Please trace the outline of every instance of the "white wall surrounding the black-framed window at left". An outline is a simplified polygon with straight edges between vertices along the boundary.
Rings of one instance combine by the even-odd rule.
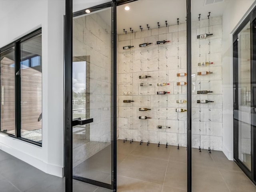
[[[63,176],[64,0],[1,0],[0,47],[42,27],[42,147],[0,135],[0,149]]]

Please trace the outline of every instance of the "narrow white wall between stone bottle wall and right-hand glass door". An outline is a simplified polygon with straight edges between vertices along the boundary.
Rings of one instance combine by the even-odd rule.
[[[233,160],[233,68],[232,33],[248,15],[248,9],[255,0],[228,0],[222,21],[222,62],[223,62],[223,152]]]

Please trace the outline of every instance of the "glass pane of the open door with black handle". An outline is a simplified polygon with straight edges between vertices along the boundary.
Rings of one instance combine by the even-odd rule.
[[[73,20],[73,175],[112,184],[111,8]]]

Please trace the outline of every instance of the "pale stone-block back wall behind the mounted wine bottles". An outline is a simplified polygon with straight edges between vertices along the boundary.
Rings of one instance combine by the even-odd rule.
[[[200,59],[199,41],[196,39],[196,35],[208,32],[208,20],[201,20],[200,27],[198,22],[192,22],[192,74],[195,74],[192,76],[192,146],[201,145],[201,148],[208,149],[210,133],[211,148],[222,150],[222,17],[210,18],[210,24],[210,32],[214,34],[210,37],[210,60],[214,64],[210,67],[198,67],[198,62],[209,60],[209,39],[200,40]],[[170,42],[158,46],[158,40]],[[140,48],[138,45],[144,42],[153,44]],[[128,45],[134,48],[123,50],[122,47]],[[200,71],[212,71],[213,74],[197,76]],[[186,109],[186,103],[177,104],[176,100],[186,100],[187,86],[176,85],[176,82],[186,82],[186,77],[176,76],[178,72],[186,72],[185,23],[118,35],[119,139],[150,140],[160,144],[168,142],[172,145],[177,145],[179,140],[180,146],[186,146],[186,112],[177,113],[175,109]],[[152,77],[139,79],[140,75]],[[160,82],[168,82],[170,85],[156,86]],[[152,86],[141,87],[140,83]],[[196,93],[197,90],[209,90],[209,84],[212,94]],[[157,91],[169,91],[170,94],[157,95]],[[133,94],[123,95],[123,92]],[[123,100],[134,102],[123,103]],[[197,104],[196,100],[214,100],[214,103]],[[139,111],[140,107],[151,110]],[[149,116],[152,119],[140,120],[139,116]],[[156,128],[157,125],[171,128],[161,130]]]

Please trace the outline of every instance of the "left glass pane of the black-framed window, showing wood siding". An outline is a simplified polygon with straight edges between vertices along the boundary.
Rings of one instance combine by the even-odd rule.
[[[0,53],[1,131],[15,135],[15,64],[14,47]]]

